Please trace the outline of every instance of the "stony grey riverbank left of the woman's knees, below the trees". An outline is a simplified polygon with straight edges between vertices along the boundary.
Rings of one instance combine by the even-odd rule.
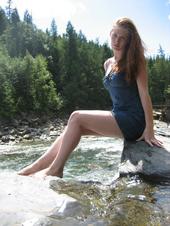
[[[67,116],[58,118],[25,116],[10,121],[0,120],[0,144],[51,140],[58,136],[67,123]]]

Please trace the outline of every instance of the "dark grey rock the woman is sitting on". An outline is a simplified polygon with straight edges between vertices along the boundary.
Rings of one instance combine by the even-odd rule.
[[[144,141],[124,142],[119,166],[120,176],[139,174],[152,181],[170,181],[170,144],[164,148],[149,146]]]

